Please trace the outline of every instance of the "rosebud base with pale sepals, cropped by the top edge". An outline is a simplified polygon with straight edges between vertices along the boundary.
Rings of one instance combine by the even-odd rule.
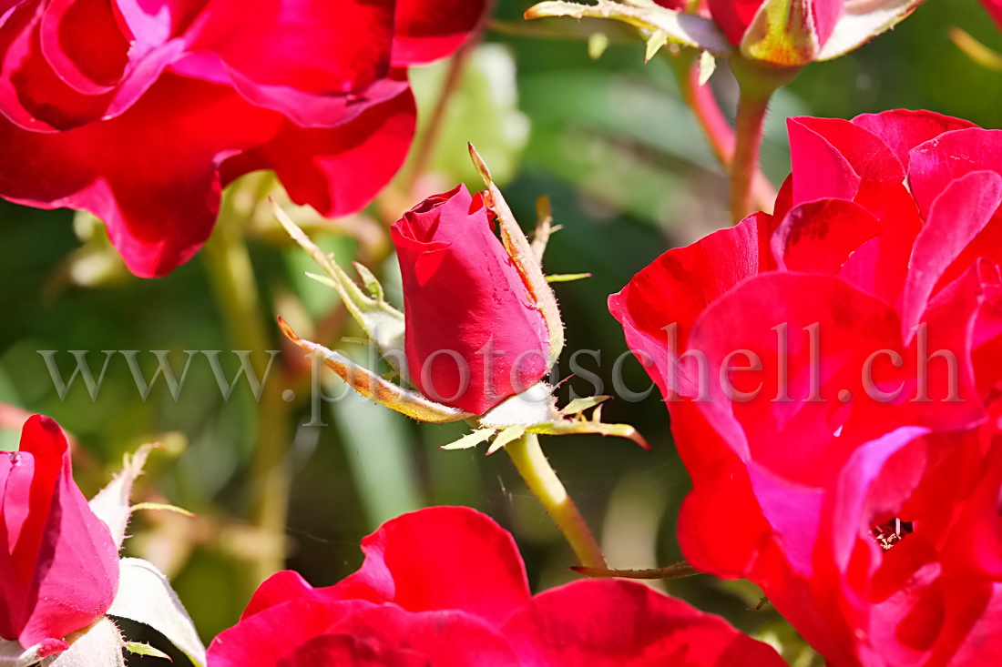
[[[741,55],[775,65],[828,60],[893,28],[923,0],[707,0]]]

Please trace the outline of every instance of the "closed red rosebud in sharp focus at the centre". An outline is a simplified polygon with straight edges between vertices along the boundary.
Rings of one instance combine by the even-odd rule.
[[[431,196],[391,233],[404,282],[407,365],[419,391],[483,415],[542,379],[546,322],[479,194],[458,185]]]

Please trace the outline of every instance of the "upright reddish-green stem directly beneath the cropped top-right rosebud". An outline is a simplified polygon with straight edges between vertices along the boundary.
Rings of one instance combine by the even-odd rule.
[[[730,165],[730,219],[737,224],[755,210],[752,183],[759,173],[759,150],[769,102],[773,93],[797,76],[800,68],[734,58],[730,69],[740,87],[734,158]]]

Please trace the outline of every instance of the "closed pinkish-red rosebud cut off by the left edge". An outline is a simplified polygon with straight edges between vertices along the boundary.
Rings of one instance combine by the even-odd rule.
[[[118,549],[73,482],[66,436],[35,416],[0,466],[0,637],[44,657],[104,615],[118,588]]]

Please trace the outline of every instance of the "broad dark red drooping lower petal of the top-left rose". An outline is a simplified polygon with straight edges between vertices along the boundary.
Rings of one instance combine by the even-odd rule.
[[[212,230],[216,165],[280,123],[224,87],[164,75],[128,113],[76,130],[40,134],[0,120],[0,143],[25,156],[0,164],[0,192],[42,208],[89,210],[130,270],[163,275]]]

